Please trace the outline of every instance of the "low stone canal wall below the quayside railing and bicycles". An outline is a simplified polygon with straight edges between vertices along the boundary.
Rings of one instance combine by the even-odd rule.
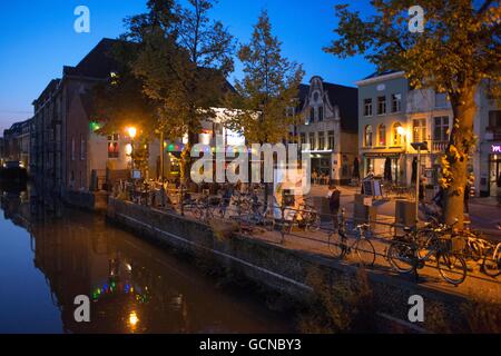
[[[200,221],[114,198],[108,201],[107,217],[136,234],[165,243],[184,253],[212,258],[234,276],[245,277],[299,301],[312,296],[313,288],[308,285],[308,276],[313,270],[324,273],[322,275],[328,276],[331,283],[346,276],[356,278],[355,266],[248,236],[233,234],[222,239],[210,226]],[[464,320],[458,318],[464,315],[459,313],[468,300],[464,296],[416,285],[381,270],[366,273],[377,314],[393,326],[423,330],[404,322],[407,320],[411,307],[409,298],[413,295],[422,296],[426,306],[433,305],[435,312],[443,313],[436,317],[446,316],[452,318],[455,325],[463,325]]]

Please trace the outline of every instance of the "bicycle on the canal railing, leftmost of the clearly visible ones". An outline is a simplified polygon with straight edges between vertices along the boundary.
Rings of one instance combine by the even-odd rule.
[[[328,235],[327,245],[331,254],[334,258],[344,259],[352,251],[355,251],[363,266],[374,266],[376,254],[374,245],[367,236],[370,225],[360,224],[355,227],[356,237],[352,245],[348,244],[346,225],[345,211],[343,209],[338,219],[337,234],[335,234],[336,231],[332,231]]]

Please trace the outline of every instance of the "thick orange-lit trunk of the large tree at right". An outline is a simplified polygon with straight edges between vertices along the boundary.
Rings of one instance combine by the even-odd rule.
[[[443,168],[443,177],[446,179],[446,194],[444,201],[444,222],[463,227],[464,189],[468,184],[469,156],[474,146],[473,120],[477,113],[475,88],[468,87],[460,91],[455,98],[451,98],[454,119],[452,122],[451,138],[445,151],[450,167]]]

